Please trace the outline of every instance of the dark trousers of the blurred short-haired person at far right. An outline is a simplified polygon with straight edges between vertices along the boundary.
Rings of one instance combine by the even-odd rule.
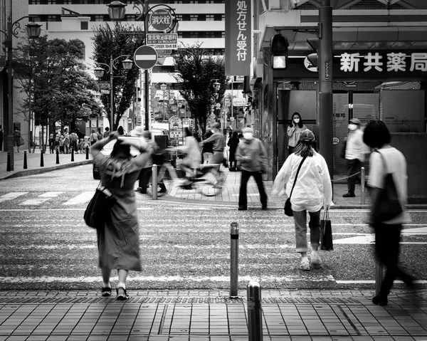
[[[386,269],[380,295],[389,295],[393,282],[401,278],[406,284],[411,285],[412,277],[399,268],[399,243],[401,238],[401,224],[375,224],[375,253]]]

